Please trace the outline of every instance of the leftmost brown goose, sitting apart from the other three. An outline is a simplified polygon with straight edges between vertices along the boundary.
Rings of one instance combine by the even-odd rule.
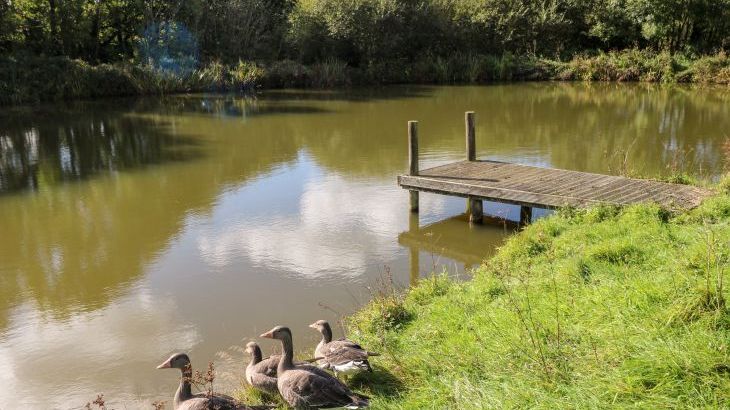
[[[176,353],[170,356],[164,363],[157,366],[158,369],[180,369],[182,377],[180,386],[175,392],[172,400],[173,410],[256,410],[268,409],[268,406],[249,407],[238,403],[233,397],[225,394],[213,393],[212,396],[199,393],[193,394],[190,378],[193,376],[193,369],[190,366],[190,358],[185,353]]]

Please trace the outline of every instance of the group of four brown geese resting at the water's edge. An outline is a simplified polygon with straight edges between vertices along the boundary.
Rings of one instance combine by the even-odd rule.
[[[347,339],[332,340],[332,328],[325,320],[318,320],[309,327],[322,334],[322,340],[314,351],[314,361],[319,366],[294,361],[294,343],[288,327],[276,326],[261,337],[281,342],[282,354],[262,358],[261,348],[255,342],[246,345],[251,361],[246,367],[246,382],[254,388],[281,397],[295,409],[321,409],[345,407],[349,409],[368,406],[368,397],[352,392],[338,376],[360,371],[372,372],[368,352]],[[249,406],[220,393],[193,394],[190,380],[192,367],[185,353],[170,356],[158,369],[179,369],[180,385],[173,398],[174,410],[255,410],[269,406]],[[327,370],[334,373],[334,376]]]

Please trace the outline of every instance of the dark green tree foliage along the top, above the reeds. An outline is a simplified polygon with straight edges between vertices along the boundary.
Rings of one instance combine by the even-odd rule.
[[[203,65],[563,59],[632,47],[708,54],[730,47],[730,0],[0,1],[0,55],[146,63],[150,51],[180,51],[181,42]]]

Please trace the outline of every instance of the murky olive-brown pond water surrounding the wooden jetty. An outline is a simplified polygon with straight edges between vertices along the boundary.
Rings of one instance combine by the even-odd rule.
[[[0,112],[0,409],[172,399],[174,351],[243,372],[235,346],[284,324],[309,352],[382,282],[468,277],[513,231],[465,201],[396,185],[406,123],[422,167],[477,155],[537,166],[717,178],[730,90],[528,83],[267,91]],[[485,212],[516,219],[513,206]],[[413,263],[416,261],[416,263]],[[336,334],[341,334],[337,328]],[[262,343],[265,354],[274,348]]]

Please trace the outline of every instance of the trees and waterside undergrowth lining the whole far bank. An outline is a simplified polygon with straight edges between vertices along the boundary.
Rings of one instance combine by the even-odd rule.
[[[730,81],[730,0],[0,0],[0,103],[255,87]]]

